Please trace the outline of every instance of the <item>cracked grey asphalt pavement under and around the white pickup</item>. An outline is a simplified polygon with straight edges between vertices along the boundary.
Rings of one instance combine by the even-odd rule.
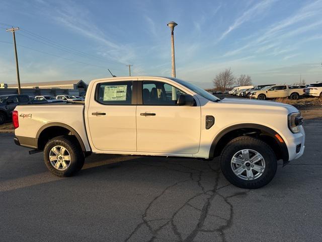
[[[320,241],[322,120],[266,187],[236,188],[217,160],[92,155],[74,177],[0,134],[0,241]]]

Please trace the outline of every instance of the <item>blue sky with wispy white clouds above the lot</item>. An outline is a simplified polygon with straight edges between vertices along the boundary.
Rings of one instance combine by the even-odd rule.
[[[89,82],[108,68],[127,76],[127,64],[135,76],[170,76],[170,21],[177,77],[203,88],[225,68],[255,84],[322,81],[321,13],[322,0],[0,0],[0,83],[16,82],[7,24],[22,29],[21,82]]]

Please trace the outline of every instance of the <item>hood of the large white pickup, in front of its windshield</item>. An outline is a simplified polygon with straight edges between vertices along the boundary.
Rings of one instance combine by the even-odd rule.
[[[263,101],[263,100],[253,100],[253,99],[241,99],[241,98],[224,98],[220,100],[222,103],[236,104],[236,105],[257,105],[257,106],[275,106],[284,107],[290,112],[298,112],[298,109],[292,105],[275,102],[275,101]]]

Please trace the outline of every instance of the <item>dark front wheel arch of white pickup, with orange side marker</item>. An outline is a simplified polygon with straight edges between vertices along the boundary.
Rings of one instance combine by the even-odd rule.
[[[238,124],[222,130],[213,140],[209,158],[219,156],[225,145],[239,136],[253,136],[266,142],[275,152],[278,159],[287,162],[288,149],[283,138],[273,129],[258,124]]]

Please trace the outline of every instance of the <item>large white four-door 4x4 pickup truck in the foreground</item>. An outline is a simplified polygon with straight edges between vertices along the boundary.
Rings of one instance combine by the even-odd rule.
[[[50,106],[50,108],[49,108]],[[57,176],[91,153],[213,159],[240,188],[260,188],[304,152],[300,112],[272,101],[219,99],[176,78],[93,80],[85,104],[18,105],[17,145],[43,151]],[[198,162],[198,161],[196,161]]]

